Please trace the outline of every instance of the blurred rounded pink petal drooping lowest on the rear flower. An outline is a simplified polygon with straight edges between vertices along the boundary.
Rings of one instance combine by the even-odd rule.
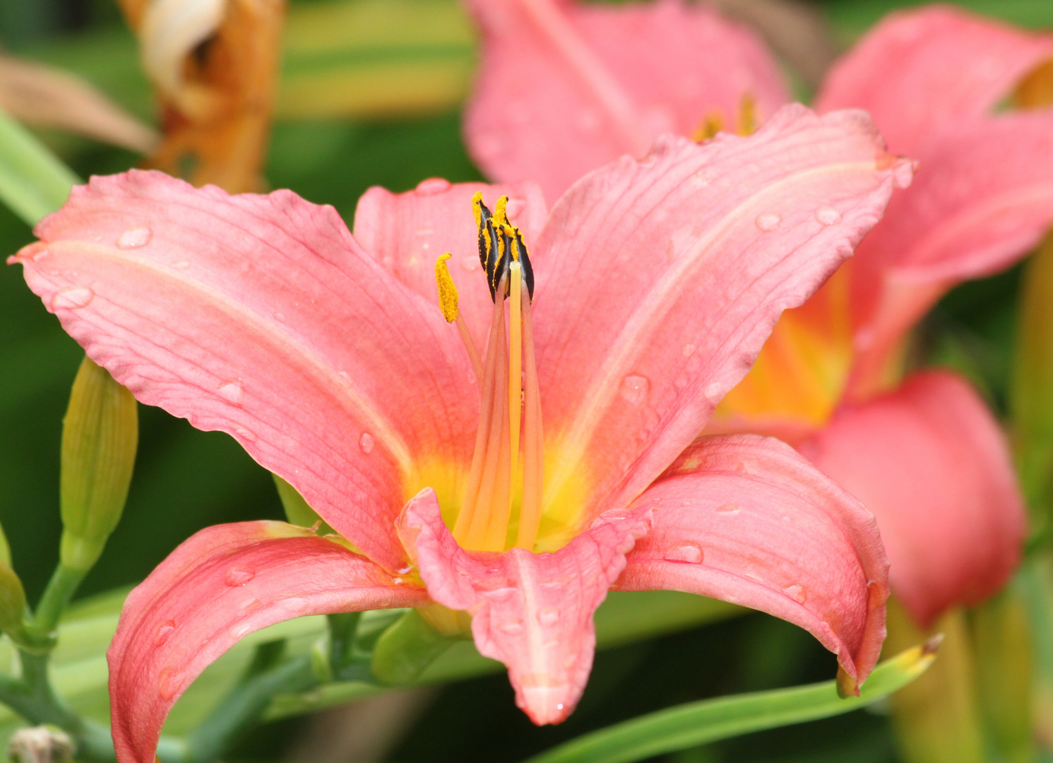
[[[957,376],[919,373],[801,450],[874,512],[892,589],[921,626],[978,604],[1016,568],[1025,519],[1006,437]]]

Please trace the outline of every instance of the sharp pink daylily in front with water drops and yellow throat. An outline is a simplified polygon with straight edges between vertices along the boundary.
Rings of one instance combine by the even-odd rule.
[[[369,191],[351,234],[287,191],[75,189],[9,260],[31,289],[138,399],[230,433],[340,533],[207,528],[133,591],[110,650],[122,763],[153,761],[218,654],[302,614],[468,612],[536,723],[573,710],[612,587],[771,612],[865,680],[873,517],[777,441],[694,441],[910,175],[862,112],[788,106],[751,137],[662,139],[549,214],[531,184],[432,179]]]

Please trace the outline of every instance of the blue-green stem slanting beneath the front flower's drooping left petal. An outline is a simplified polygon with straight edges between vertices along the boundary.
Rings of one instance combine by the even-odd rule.
[[[259,721],[276,693],[303,691],[317,683],[310,657],[290,660],[252,677],[223,698],[197,727],[187,740],[183,760],[187,763],[218,760],[243,731]]]

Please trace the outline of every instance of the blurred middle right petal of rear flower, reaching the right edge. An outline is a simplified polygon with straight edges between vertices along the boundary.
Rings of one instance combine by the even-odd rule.
[[[1009,267],[1053,223],[1053,111],[945,129],[917,158],[852,259],[857,397],[950,287]]]

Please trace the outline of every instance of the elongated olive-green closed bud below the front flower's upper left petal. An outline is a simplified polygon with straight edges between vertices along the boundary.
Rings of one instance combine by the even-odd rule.
[[[135,397],[85,357],[62,423],[64,567],[86,572],[102,553],[124,510],[138,442]]]

